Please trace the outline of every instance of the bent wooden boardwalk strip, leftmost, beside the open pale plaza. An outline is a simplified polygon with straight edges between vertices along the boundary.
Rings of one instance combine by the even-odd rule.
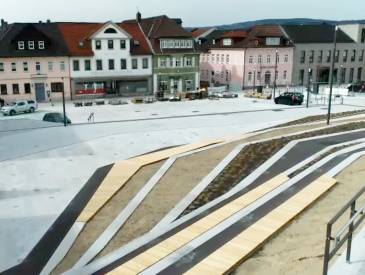
[[[183,145],[114,164],[84,210],[80,213],[77,222],[88,222],[143,166],[167,159],[171,156],[221,143],[222,141],[211,140]]]

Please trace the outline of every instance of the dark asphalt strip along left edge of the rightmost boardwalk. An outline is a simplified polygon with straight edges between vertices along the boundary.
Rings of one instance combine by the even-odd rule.
[[[169,275],[169,274],[182,274],[192,268],[194,265],[201,262],[208,255],[219,249],[222,245],[229,242],[237,235],[242,233],[245,229],[250,227],[252,224],[260,220],[262,217],[270,213],[274,208],[277,208],[279,205],[283,204],[285,201],[290,199],[295,194],[302,191],[306,186],[311,184],[314,180],[324,175],[328,171],[330,171],[333,167],[341,163],[343,160],[348,158],[351,154],[364,151],[364,149],[359,149],[351,153],[346,153],[340,156],[335,157],[328,163],[324,164],[320,169],[315,170],[302,180],[295,183],[292,187],[288,188],[284,192],[280,193],[273,199],[267,201],[261,207],[257,208],[253,212],[251,212],[248,216],[244,217],[234,225],[230,226],[228,229],[222,231],[217,234],[213,238],[209,239],[203,245],[194,249],[184,257],[180,258],[174,264],[170,265],[166,269],[162,270],[161,275]],[[239,263],[237,263],[238,265]],[[233,267],[232,269],[234,269]]]

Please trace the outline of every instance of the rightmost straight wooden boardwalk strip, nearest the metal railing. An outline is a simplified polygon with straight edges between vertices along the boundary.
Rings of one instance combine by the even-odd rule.
[[[322,176],[301,192],[275,208],[241,234],[224,244],[185,274],[226,274],[247,259],[273,234],[294,219],[308,206],[336,184],[336,180]]]

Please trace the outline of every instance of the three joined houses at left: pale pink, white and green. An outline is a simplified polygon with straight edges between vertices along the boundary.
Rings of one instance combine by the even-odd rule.
[[[180,19],[0,25],[5,101],[175,94],[199,88],[199,53]]]

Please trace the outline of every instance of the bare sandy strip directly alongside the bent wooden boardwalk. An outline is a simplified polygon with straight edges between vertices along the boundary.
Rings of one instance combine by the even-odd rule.
[[[108,225],[123,210],[141,187],[157,172],[162,162],[140,169],[124,187],[85,225],[63,261],[52,274],[61,274],[70,269],[100,236]]]

